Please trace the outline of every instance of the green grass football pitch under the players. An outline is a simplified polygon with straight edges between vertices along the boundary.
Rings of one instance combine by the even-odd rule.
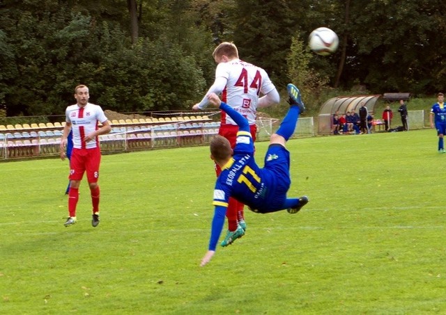
[[[445,314],[446,154],[431,129],[291,140],[295,215],[246,213],[207,266],[208,147],[102,157],[101,223],[68,163],[0,163],[1,314]],[[258,161],[268,143],[257,143]]]

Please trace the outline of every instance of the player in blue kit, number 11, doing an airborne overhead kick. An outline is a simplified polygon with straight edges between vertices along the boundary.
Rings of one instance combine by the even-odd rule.
[[[210,141],[210,157],[220,165],[222,172],[215,184],[213,205],[215,206],[208,252],[201,259],[201,266],[208,264],[215,254],[218,239],[222,233],[229,197],[243,202],[256,213],[270,213],[287,210],[297,213],[309,201],[306,196],[287,198],[291,185],[289,151],[286,141],[293,135],[300,113],[305,106],[300,91],[293,84],[288,85],[290,109],[275,134],[265,156],[265,166],[260,168],[254,161],[254,142],[249,132],[249,123],[231,106],[223,103],[215,93],[208,95],[210,104],[226,112],[238,125],[236,147],[231,149],[229,140],[215,136]],[[230,243],[243,236],[243,229],[233,233]]]

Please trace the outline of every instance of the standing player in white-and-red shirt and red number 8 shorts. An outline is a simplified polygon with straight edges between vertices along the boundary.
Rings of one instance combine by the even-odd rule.
[[[61,139],[61,159],[66,157],[65,148],[68,134],[72,131],[73,148],[70,158],[70,190],[68,191],[68,212],[70,216],[64,225],[66,227],[76,223],[76,206],[79,200],[79,185],[86,172],[91,191],[91,203],[93,204],[93,216],[91,225],[99,224],[99,196],[98,186],[100,166],[100,146],[98,136],[108,134],[110,126],[104,111],[100,106],[89,103],[89,88],[77,86],[75,99],[77,104],[66,109],[66,125],[63,128]],[[102,124],[99,128],[98,122]]]

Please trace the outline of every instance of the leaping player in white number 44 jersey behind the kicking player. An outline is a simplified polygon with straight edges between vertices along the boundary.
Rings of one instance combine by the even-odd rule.
[[[261,67],[246,63],[238,57],[238,49],[231,42],[222,42],[215,48],[213,58],[218,64],[215,70],[215,81],[209,88],[200,103],[192,108],[197,111],[208,106],[208,95],[221,94],[222,102],[229,104],[233,109],[245,116],[249,122],[253,140],[256,139],[256,113],[257,108],[267,107],[280,102],[270,77]],[[260,97],[260,95],[263,95]],[[231,147],[236,146],[238,126],[224,111],[221,113],[219,134],[229,140]],[[222,171],[216,164],[217,176]],[[226,211],[228,218],[228,231],[222,246],[231,244],[234,240],[245,234],[246,223],[243,213],[243,203],[231,198]]]

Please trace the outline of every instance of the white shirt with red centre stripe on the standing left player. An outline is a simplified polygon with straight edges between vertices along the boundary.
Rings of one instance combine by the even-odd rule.
[[[104,111],[98,105],[87,103],[84,107],[77,104],[66,109],[66,122],[71,122],[72,143],[76,149],[93,149],[99,147],[98,137],[85,142],[84,138],[91,132],[98,130],[98,122],[107,121]]]

